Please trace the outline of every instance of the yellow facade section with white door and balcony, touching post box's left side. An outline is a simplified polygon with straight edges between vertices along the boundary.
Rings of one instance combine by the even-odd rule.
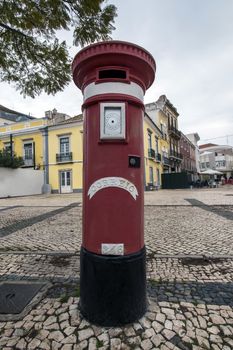
[[[49,126],[48,173],[46,175],[52,193],[81,192],[82,167],[82,116]]]

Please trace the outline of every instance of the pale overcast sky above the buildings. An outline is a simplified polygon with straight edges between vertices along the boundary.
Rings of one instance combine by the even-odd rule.
[[[156,79],[145,103],[165,94],[180,114],[183,133],[197,132],[202,143],[233,145],[233,0],[109,3],[118,8],[113,39],[138,44],[156,60]],[[72,56],[80,49],[72,47],[71,33],[60,38],[67,40]],[[81,112],[82,95],[73,83],[55,96],[35,99],[23,98],[5,83],[0,89],[0,104],[35,117],[53,108],[71,116]]]

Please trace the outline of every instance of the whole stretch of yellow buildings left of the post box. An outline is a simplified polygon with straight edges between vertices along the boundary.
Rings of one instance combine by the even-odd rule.
[[[22,157],[24,168],[44,170],[44,193],[82,190],[82,116],[70,118],[54,110],[47,118],[17,123],[3,115],[1,124],[0,150]]]

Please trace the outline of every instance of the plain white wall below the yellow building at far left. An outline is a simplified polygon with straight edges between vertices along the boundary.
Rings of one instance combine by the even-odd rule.
[[[0,197],[41,194],[43,170],[0,167]]]

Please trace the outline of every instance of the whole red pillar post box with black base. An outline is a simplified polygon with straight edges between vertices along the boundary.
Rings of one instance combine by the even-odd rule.
[[[80,309],[116,326],[146,311],[143,97],[155,61],[137,45],[100,42],[72,70],[84,97]]]

